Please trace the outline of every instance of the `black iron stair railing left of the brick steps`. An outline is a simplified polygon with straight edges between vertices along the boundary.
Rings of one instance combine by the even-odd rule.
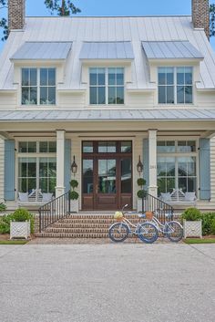
[[[44,204],[39,208],[39,232],[41,233],[47,226],[56,223],[57,220],[70,214],[69,192],[62,194],[53,201]]]

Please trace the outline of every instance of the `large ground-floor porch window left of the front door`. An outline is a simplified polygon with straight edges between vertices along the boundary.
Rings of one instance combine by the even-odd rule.
[[[55,193],[56,141],[18,143],[18,192]]]

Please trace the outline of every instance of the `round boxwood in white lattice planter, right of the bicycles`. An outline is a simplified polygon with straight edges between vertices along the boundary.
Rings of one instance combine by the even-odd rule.
[[[202,238],[201,213],[197,208],[188,208],[182,213],[184,225],[184,238]]]

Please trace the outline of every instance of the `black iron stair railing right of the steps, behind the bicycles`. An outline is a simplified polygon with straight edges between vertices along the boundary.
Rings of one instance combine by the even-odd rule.
[[[169,203],[164,203],[146,192],[145,197],[142,198],[142,213],[145,212],[153,212],[161,223],[165,223],[167,219],[173,220],[174,209]]]

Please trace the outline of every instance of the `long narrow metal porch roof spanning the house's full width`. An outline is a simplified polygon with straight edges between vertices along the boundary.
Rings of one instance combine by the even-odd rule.
[[[57,109],[0,111],[0,122],[215,120],[215,109]]]

